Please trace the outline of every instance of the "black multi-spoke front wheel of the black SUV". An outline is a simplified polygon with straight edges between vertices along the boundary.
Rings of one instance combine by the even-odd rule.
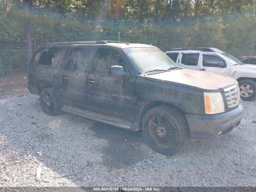
[[[172,155],[180,150],[188,135],[187,120],[182,112],[170,107],[150,109],[143,118],[142,133],[155,151]]]

